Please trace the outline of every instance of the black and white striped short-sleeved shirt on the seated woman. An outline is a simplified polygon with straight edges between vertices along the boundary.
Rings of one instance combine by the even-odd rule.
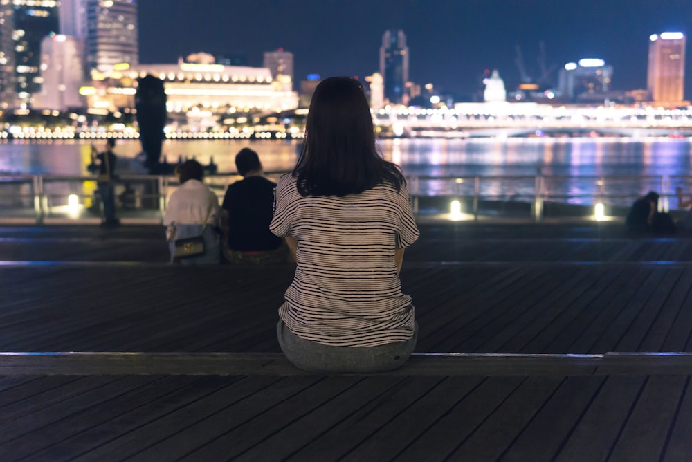
[[[419,232],[408,190],[380,184],[361,194],[303,197],[291,174],[276,187],[269,226],[298,241],[298,266],[279,315],[296,335],[327,345],[374,347],[414,333],[394,250]]]

